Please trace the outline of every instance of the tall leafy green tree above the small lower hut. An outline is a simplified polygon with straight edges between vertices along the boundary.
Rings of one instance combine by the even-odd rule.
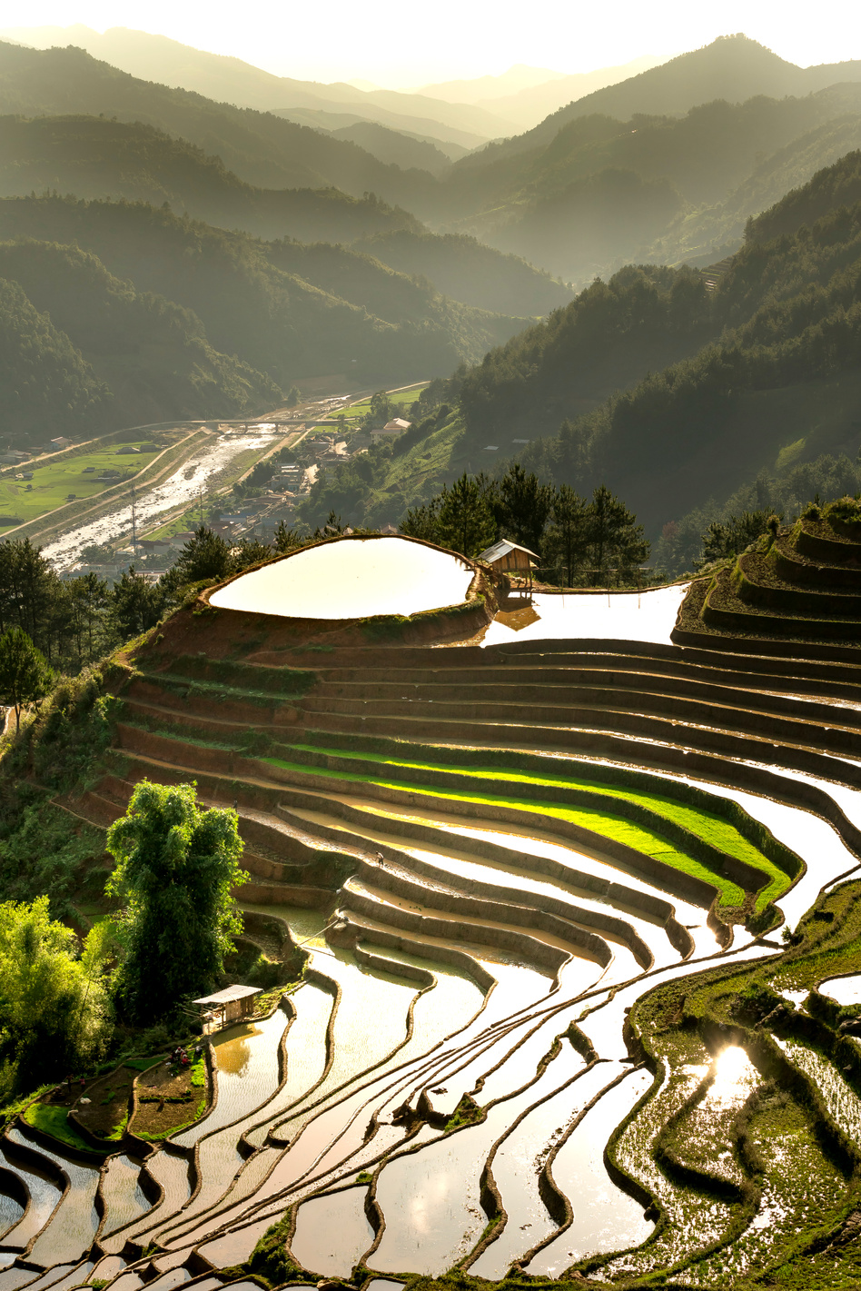
[[[107,831],[107,849],[116,861],[107,892],[123,905],[119,990],[147,1021],[212,990],[241,932],[232,889],[248,875],[236,813],[201,809],[195,785],[143,780]]]

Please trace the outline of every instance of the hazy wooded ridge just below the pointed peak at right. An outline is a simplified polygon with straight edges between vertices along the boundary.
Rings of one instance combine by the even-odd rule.
[[[747,216],[860,142],[861,84],[844,85],[718,99],[682,117],[580,116],[546,146],[465,158],[445,188],[471,212],[465,229],[582,283],[626,259],[709,257],[731,239],[734,249]]]

